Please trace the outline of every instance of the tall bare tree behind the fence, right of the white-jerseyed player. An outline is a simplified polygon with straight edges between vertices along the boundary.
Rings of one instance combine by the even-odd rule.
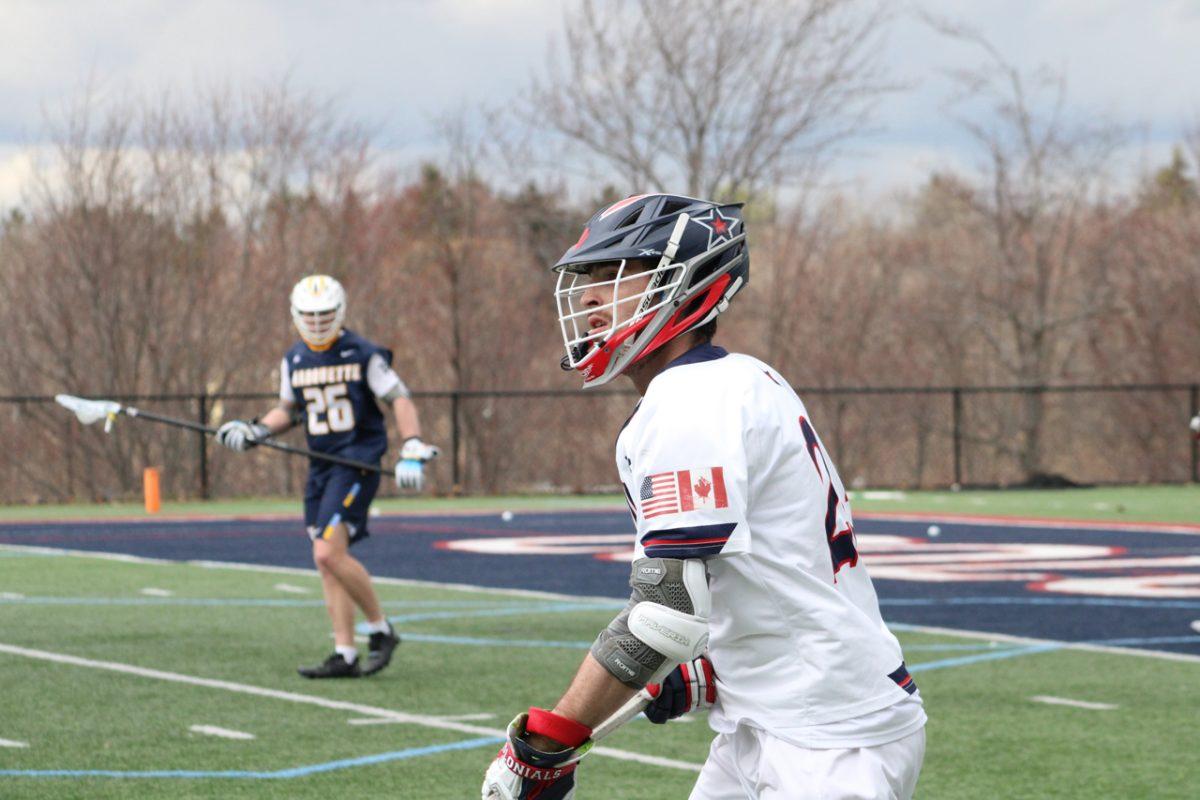
[[[1114,307],[1117,225],[1104,193],[1127,132],[1075,121],[1062,76],[1024,73],[979,34],[938,28],[983,64],[953,73],[965,109],[956,118],[982,164],[972,191],[956,196],[966,248],[937,266],[962,300],[961,335],[978,342],[974,356],[994,366],[991,379],[1028,387],[995,440],[1036,480],[1045,471],[1038,387],[1078,375],[1091,325]]]

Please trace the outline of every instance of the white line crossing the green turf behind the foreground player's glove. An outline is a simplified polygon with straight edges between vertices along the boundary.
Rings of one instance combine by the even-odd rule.
[[[440,717],[428,716],[424,714],[408,714],[407,711],[394,711],[391,709],[383,709],[374,705],[364,705],[361,703],[347,703],[344,700],[332,700],[325,697],[317,697],[313,694],[300,694],[298,692],[284,692],[277,688],[251,686],[248,684],[235,684],[228,680],[215,680],[211,678],[184,675],[175,672],[166,672],[162,669],[149,669],[146,667],[136,667],[133,664],[125,664],[115,661],[97,661],[95,658],[80,658],[79,656],[72,656],[65,652],[34,650],[31,648],[22,648],[13,644],[2,644],[2,643],[0,643],[0,652],[7,652],[10,655],[23,656],[25,658],[34,658],[37,661],[50,661],[55,663],[71,664],[73,667],[106,669],[109,672],[122,673],[126,675],[137,675],[138,678],[151,678],[155,680],[164,680],[174,684],[187,684],[190,686],[220,688],[222,691],[234,692],[238,694],[268,697],[276,700],[286,700],[288,703],[301,703],[305,705],[316,705],[323,709],[334,709],[336,711],[352,711],[361,716],[382,717],[386,720],[395,720],[396,722],[408,722],[410,724],[419,724],[426,728],[438,728],[442,730],[469,733],[475,736],[496,736],[497,739],[503,739],[505,735],[505,733],[498,728],[484,728],[481,726],[455,722],[452,720],[444,720]],[[608,756],[610,758],[618,758],[626,762],[638,762],[642,764],[650,764],[653,766],[668,766],[673,769],[688,770],[694,772],[700,771],[700,764],[679,762],[672,758],[658,758],[655,756],[646,756],[643,753],[635,753],[628,750],[616,750],[612,747],[596,747],[593,750],[593,752],[600,753],[602,756]]]

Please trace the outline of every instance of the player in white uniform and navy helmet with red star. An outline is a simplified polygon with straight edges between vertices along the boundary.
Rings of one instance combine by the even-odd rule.
[[[925,712],[838,471],[787,383],[710,343],[749,277],[740,205],[622,200],[554,270],[564,367],[642,395],[617,439],[632,596],[554,709],[510,726],[484,798],[570,798],[590,730],[634,692],[666,674],[701,698],[706,646],[718,735],[692,799],[911,798]]]

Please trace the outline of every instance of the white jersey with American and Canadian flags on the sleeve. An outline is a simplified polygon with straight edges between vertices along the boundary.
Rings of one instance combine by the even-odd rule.
[[[770,367],[712,345],[677,359],[617,438],[617,468],[636,558],[708,561],[715,730],[865,747],[924,724],[841,479]]]

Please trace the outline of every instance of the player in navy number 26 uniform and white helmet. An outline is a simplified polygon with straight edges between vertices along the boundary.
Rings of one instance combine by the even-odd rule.
[[[300,341],[280,365],[280,404],[256,421],[232,420],[217,440],[239,452],[292,427],[306,423],[308,447],[376,464],[388,450],[388,431],[376,399],[389,403],[404,441],[396,483],[420,489],[424,463],[437,449],[421,441],[416,408],[391,368],[391,353],[342,327],[346,291],[324,275],[310,276],[292,290],[292,320]],[[371,675],[391,660],[400,637],[379,608],[371,576],[349,553],[367,536],[367,510],[379,475],[312,459],[305,487],[304,516],[312,540],[312,560],[320,572],[325,608],[334,622],[335,650],[323,663],[302,667],[305,678]],[[360,667],[354,646],[354,607],[371,631],[370,652]]]

